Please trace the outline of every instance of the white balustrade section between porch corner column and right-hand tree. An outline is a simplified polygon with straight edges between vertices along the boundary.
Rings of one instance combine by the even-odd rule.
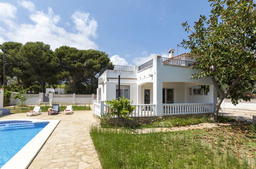
[[[163,104],[163,115],[183,115],[183,114],[202,114],[212,113],[212,103],[180,103]]]

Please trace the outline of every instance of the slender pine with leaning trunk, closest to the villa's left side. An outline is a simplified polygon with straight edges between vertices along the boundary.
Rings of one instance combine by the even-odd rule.
[[[82,54],[87,60],[85,61],[85,69],[88,75],[88,79],[90,79],[90,88],[89,94],[92,93],[95,75],[100,73],[106,66],[112,66],[112,62],[108,57],[108,54],[102,51],[97,51],[93,49],[89,49],[83,52]]]

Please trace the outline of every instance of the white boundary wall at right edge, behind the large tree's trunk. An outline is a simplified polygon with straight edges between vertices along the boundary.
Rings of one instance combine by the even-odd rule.
[[[222,109],[256,111],[256,99],[245,101],[240,99],[237,105],[232,104],[231,99],[224,99],[221,103]]]

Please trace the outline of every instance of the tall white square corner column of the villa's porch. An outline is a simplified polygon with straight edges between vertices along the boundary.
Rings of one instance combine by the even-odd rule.
[[[153,74],[153,104],[156,104],[156,115],[163,115],[163,81],[162,81],[162,57],[155,56],[153,58],[153,67],[155,74]]]

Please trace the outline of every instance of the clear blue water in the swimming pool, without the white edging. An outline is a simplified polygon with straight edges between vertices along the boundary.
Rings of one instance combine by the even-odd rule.
[[[49,122],[0,122],[0,168]]]

